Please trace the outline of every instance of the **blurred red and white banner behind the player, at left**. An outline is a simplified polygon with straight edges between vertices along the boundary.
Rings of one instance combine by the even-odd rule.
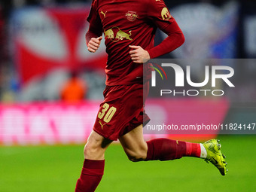
[[[97,53],[87,51],[89,8],[24,8],[14,12],[11,36],[22,83],[56,68],[105,67],[104,40]]]

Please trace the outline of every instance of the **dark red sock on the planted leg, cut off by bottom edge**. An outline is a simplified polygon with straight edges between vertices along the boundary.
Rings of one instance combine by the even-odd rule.
[[[84,160],[75,192],[93,192],[96,190],[104,172],[105,160]]]

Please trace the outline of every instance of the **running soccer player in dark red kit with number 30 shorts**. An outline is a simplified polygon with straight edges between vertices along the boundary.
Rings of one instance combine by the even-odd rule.
[[[144,110],[146,96],[143,97],[148,93],[148,81],[143,83],[142,78],[143,70],[148,69],[143,63],[184,43],[184,35],[163,0],[93,0],[87,20],[90,27],[86,40],[90,52],[96,52],[102,33],[105,35],[107,78],[105,99],[84,147],[84,166],[75,191],[96,190],[104,171],[105,150],[117,139],[134,162],[200,157],[225,175],[225,157],[216,139],[203,144],[171,139],[145,142],[143,139],[142,124],[149,121]],[[157,27],[168,37],[154,47]]]

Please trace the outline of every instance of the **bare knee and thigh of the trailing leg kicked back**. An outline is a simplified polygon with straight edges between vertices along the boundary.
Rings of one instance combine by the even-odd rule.
[[[143,138],[142,125],[121,136],[119,141],[130,160],[145,160],[147,157],[148,145]]]

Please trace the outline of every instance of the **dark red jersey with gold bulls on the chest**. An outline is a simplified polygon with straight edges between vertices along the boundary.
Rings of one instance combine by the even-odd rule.
[[[177,26],[172,25],[175,20],[163,0],[94,0],[87,20],[93,25],[94,34],[105,35],[106,84],[111,86],[142,83],[144,65],[133,62],[129,45],[148,50],[152,59],[166,53],[166,50],[154,50],[157,27],[169,35],[170,26]]]

